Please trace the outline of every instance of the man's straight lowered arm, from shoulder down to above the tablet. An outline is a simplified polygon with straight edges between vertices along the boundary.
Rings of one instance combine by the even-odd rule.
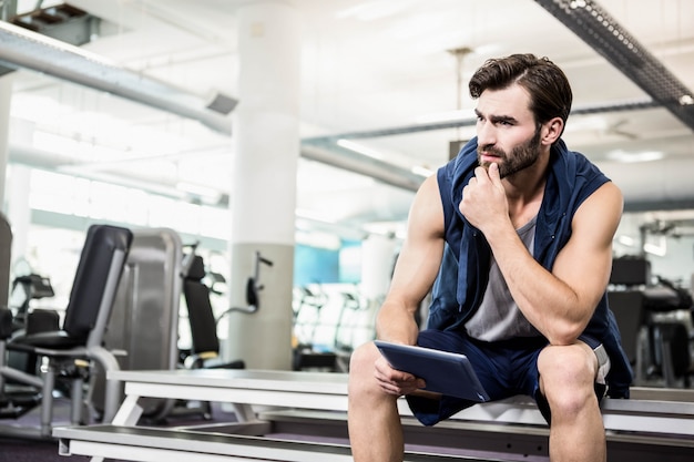
[[[439,186],[436,175],[431,175],[417,192],[410,208],[407,238],[376,321],[379,339],[407,345],[417,341],[419,326],[415,312],[439,271],[443,233]]]

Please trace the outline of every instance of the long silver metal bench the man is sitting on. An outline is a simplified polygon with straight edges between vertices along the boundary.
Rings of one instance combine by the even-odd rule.
[[[233,460],[351,460],[346,374],[120,370],[110,371],[109,379],[124,382],[125,400],[115,418],[110,424],[54,429],[61,454],[162,462],[232,455]],[[139,427],[137,401],[146,397],[231,403],[237,422],[186,429]],[[603,402],[610,461],[693,460],[694,392],[635,388],[632,397]],[[529,398],[478,404],[433,428],[417,423],[404,400],[398,409],[406,460],[548,460],[549,430]]]

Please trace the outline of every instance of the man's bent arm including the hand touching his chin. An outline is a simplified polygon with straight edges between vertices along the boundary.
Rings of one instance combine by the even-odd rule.
[[[579,207],[571,237],[552,271],[542,267],[521,242],[508,215],[496,165],[489,175],[478,168],[463,189],[461,212],[487,237],[499,269],[519,309],[552,345],[570,345],[583,332],[610,279],[612,238],[623,199],[611,182]]]

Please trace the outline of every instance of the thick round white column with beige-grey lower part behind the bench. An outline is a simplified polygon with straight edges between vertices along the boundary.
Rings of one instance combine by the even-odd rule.
[[[234,112],[231,304],[246,305],[256,253],[259,309],[233,312],[225,357],[247,368],[292,367],[292,292],[299,156],[299,18],[279,2],[238,10],[239,104]]]

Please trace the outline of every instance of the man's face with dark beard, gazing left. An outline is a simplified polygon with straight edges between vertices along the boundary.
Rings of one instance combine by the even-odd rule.
[[[534,165],[540,156],[541,126],[529,109],[530,96],[519,85],[486,90],[477,113],[478,162],[499,165],[501,177]]]

